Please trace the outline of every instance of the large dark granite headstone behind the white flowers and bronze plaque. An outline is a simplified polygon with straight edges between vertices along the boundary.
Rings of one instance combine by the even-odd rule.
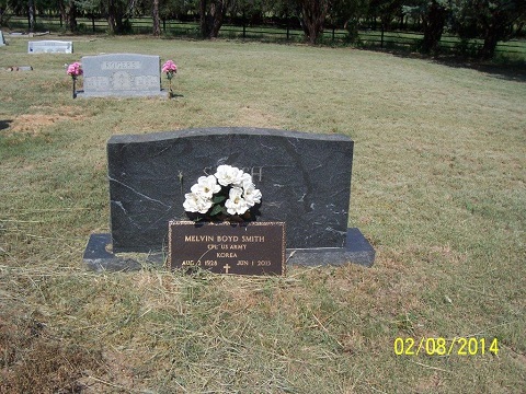
[[[184,194],[199,176],[230,164],[252,174],[263,195],[258,220],[286,222],[289,263],[369,266],[375,251],[358,229],[347,228],[353,146],[341,135],[259,128],[113,136],[113,252],[162,251],[168,222],[187,218]]]

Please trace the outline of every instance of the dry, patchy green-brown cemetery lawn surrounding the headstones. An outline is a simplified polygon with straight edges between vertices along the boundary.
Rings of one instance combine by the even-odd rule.
[[[142,37],[77,36],[73,55],[27,55],[26,38],[7,38],[1,393],[524,392],[524,70]],[[179,96],[71,99],[65,63],[124,51],[173,59]],[[87,271],[89,234],[108,231],[107,139],[207,126],[352,137],[350,225],[374,244],[374,267]],[[427,356],[437,341],[424,340],[397,356],[397,338],[415,354],[445,338],[451,354]]]

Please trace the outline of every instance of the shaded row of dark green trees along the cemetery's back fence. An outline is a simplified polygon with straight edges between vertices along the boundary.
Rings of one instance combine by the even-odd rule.
[[[217,37],[226,21],[242,24],[285,22],[302,28],[316,44],[323,28],[345,28],[356,37],[364,24],[387,31],[395,24],[423,33],[420,50],[438,51],[445,31],[460,38],[479,38],[479,56],[492,58],[496,44],[522,34],[526,0],[0,0],[0,23],[11,14],[58,14],[68,32],[78,30],[77,18],[101,18],[111,34],[130,28],[129,20],[149,16],[152,35],[161,34],[161,21],[197,19],[204,38]]]

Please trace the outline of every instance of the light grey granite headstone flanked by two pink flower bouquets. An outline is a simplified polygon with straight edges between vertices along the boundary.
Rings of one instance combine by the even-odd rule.
[[[108,54],[83,56],[83,92],[79,97],[165,96],[159,56]]]

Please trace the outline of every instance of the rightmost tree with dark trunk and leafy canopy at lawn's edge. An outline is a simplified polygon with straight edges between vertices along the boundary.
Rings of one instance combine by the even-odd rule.
[[[525,0],[464,0],[455,27],[462,38],[482,38],[484,44],[478,55],[491,59],[496,44],[515,37],[525,21]]]

